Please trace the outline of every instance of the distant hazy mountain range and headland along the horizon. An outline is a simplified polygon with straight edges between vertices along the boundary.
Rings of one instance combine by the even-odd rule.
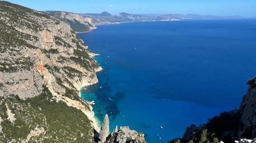
[[[101,24],[115,24],[121,22],[139,22],[139,21],[171,21],[171,20],[210,20],[210,19],[252,19],[256,17],[243,16],[214,16],[198,14],[131,14],[118,13],[112,15],[108,12],[102,13],[72,13],[62,11],[45,11],[46,13],[59,17],[70,23],[72,29],[79,32],[88,32]]]

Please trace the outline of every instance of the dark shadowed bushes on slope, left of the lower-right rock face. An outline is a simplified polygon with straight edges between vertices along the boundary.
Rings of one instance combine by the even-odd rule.
[[[234,139],[238,138],[238,131],[242,127],[240,118],[241,115],[236,110],[222,112],[219,116],[209,119],[201,129],[195,131],[191,140],[179,138],[169,141],[169,143],[219,143],[220,140],[232,143]]]

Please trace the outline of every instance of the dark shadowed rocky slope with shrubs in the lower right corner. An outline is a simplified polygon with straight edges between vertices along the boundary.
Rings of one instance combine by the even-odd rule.
[[[182,138],[169,143],[187,142],[234,142],[241,138],[256,137],[256,77],[247,81],[249,88],[239,109],[222,112],[206,124],[186,128]],[[254,139],[256,140],[256,139]],[[237,141],[238,142],[238,141]],[[241,141],[243,142],[243,141]],[[244,141],[250,142],[250,141]]]

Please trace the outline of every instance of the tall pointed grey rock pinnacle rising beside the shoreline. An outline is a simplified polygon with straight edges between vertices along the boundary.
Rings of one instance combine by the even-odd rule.
[[[109,116],[108,114],[105,115],[101,129],[99,131],[99,143],[104,143],[106,138],[109,136]]]

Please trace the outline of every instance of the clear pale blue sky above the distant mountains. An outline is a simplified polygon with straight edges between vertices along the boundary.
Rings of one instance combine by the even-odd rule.
[[[256,16],[256,0],[9,0],[35,10]]]

